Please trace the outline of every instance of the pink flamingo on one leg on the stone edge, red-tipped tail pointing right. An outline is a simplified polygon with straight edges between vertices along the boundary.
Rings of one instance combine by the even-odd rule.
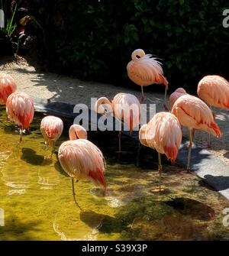
[[[189,94],[179,97],[173,105],[172,113],[176,115],[181,125],[189,128],[189,153],[187,172],[190,170],[192,150],[192,129],[202,130],[215,137],[221,136],[221,130],[214,122],[211,109],[201,99]]]

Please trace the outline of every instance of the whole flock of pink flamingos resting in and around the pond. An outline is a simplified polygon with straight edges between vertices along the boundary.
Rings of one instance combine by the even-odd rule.
[[[95,111],[106,115],[109,109],[115,118],[124,122],[130,131],[133,131],[134,126],[140,126],[140,111],[131,111],[129,118],[126,119],[122,105],[135,105],[140,109],[140,102],[144,101],[144,86],[157,83],[165,86],[164,107],[166,108],[168,81],[163,76],[161,63],[150,54],[145,54],[144,50],[134,50],[131,57],[132,60],[127,64],[127,75],[134,83],[141,86],[140,101],[132,94],[118,93],[111,102],[105,97],[98,99],[95,103]],[[15,92],[15,90],[15,80],[10,75],[1,73],[0,104],[6,105],[8,118],[21,127],[21,142],[24,129],[29,128],[34,118],[34,102],[26,93]],[[160,182],[162,171],[160,154],[166,154],[166,157],[174,163],[182,141],[182,126],[189,128],[190,135],[187,171],[190,170],[194,131],[208,132],[209,144],[210,135],[221,137],[221,130],[214,121],[211,107],[229,109],[228,81],[221,76],[205,76],[198,83],[197,95],[199,98],[189,95],[185,89],[176,89],[169,97],[170,111],[166,109],[166,112],[156,113],[150,122],[140,127],[140,144],[152,147],[158,152],[159,187],[152,190],[153,192],[163,190]],[[52,147],[53,154],[55,141],[63,132],[63,121],[55,116],[46,116],[40,123],[40,131],[45,142]],[[119,138],[121,139],[120,136]],[[121,144],[119,145],[121,149]],[[72,177],[73,196],[75,196],[74,180],[89,179],[107,189],[105,159],[102,151],[87,140],[87,131],[82,126],[72,125],[69,128],[69,141],[60,145],[58,158],[63,170]]]

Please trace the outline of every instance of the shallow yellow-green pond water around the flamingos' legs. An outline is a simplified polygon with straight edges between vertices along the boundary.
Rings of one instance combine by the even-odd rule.
[[[223,225],[227,199],[195,175],[182,175],[182,168],[170,166],[165,158],[165,190],[151,193],[158,183],[155,152],[139,152],[138,144],[123,138],[124,152],[118,160],[117,133],[89,133],[107,161],[108,192],[104,195],[102,187],[80,180],[80,210],[56,156],[60,143],[68,139],[70,124],[65,122],[50,160],[40,134],[43,115],[35,115],[19,145],[15,125],[7,122],[5,109],[0,110],[0,208],[5,213],[0,240],[229,239],[229,227]]]

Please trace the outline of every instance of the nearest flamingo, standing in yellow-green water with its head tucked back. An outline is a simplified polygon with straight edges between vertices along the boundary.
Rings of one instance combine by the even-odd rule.
[[[69,128],[69,139],[70,141],[60,145],[58,157],[63,170],[72,177],[73,196],[76,202],[74,179],[92,180],[95,184],[104,186],[106,190],[105,159],[100,149],[91,141],[87,141],[87,132],[81,125],[72,125]],[[76,204],[78,205],[77,202]]]

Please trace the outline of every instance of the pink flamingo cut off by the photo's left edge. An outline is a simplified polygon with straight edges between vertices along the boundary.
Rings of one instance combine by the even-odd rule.
[[[17,89],[15,79],[5,73],[0,73],[0,105],[5,105],[8,96]]]

